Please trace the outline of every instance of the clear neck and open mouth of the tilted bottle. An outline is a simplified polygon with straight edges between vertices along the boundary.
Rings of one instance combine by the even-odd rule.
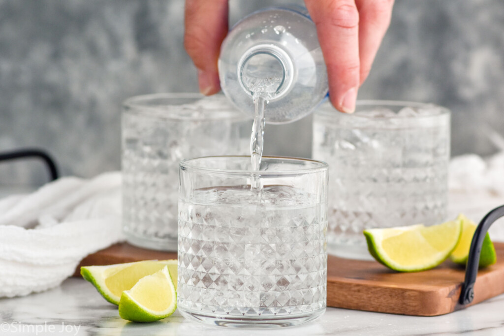
[[[275,101],[289,92],[293,64],[289,55],[274,44],[249,48],[238,61],[238,82],[250,96],[261,93]]]

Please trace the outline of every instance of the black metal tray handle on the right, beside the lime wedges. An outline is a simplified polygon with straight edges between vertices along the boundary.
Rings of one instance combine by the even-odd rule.
[[[466,278],[462,285],[459,302],[462,305],[470,304],[474,299],[474,283],[478,275],[479,257],[481,246],[485,239],[486,232],[490,226],[500,217],[504,216],[504,206],[493,209],[481,220],[471,242],[469,249],[469,258],[467,259]]]

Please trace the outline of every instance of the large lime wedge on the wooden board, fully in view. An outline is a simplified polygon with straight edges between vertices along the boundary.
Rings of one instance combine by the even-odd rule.
[[[418,272],[442,263],[462,232],[460,221],[425,227],[422,224],[364,230],[371,255],[392,270]]]

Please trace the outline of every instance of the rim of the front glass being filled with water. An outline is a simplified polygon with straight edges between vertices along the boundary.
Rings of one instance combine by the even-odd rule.
[[[197,157],[197,158],[191,158],[191,159],[184,159],[178,163],[178,166],[180,169],[184,170],[198,170],[198,171],[204,171],[208,173],[214,173],[214,174],[226,174],[226,175],[250,175],[254,173],[259,173],[259,175],[265,177],[265,176],[293,176],[293,175],[304,175],[304,174],[311,174],[319,171],[325,171],[329,169],[329,165],[324,162],[324,161],[319,161],[319,160],[313,160],[313,159],[305,159],[305,158],[295,158],[295,157],[287,157],[287,156],[263,156],[262,160],[268,160],[268,159],[277,159],[277,160],[284,160],[284,161],[291,161],[291,162],[310,162],[313,164],[316,164],[316,167],[307,167],[307,168],[300,168],[300,169],[288,169],[288,170],[276,170],[276,171],[268,171],[268,170],[251,170],[251,169],[246,169],[246,170],[238,170],[238,169],[221,169],[221,168],[208,168],[208,167],[201,167],[201,166],[195,166],[194,164],[191,164],[192,161],[196,160],[205,160],[205,159],[212,159],[212,158],[244,158],[250,160],[250,156],[248,155],[215,155],[215,156],[202,156],[202,157]]]

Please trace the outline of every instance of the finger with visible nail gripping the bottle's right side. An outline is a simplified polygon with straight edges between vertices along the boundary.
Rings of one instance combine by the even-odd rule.
[[[355,0],[305,0],[305,4],[317,25],[331,102],[338,110],[352,113],[360,84],[359,13]]]

